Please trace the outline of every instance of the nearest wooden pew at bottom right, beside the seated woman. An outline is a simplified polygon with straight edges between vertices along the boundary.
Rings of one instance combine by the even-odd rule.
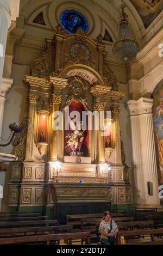
[[[154,241],[154,235],[161,236],[163,235],[163,229],[141,229],[141,230],[128,230],[128,231],[119,231],[117,236],[118,245],[121,245],[121,236],[123,237],[133,237],[133,236],[151,236],[151,240]],[[139,244],[141,241],[136,241],[135,243]],[[128,243],[126,243],[128,244]]]

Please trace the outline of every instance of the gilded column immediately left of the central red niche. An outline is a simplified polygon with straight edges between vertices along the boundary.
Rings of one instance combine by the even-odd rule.
[[[51,130],[51,146],[50,146],[50,160],[58,161],[58,139],[59,131],[55,131],[53,127],[54,113],[59,111],[61,103],[61,95],[53,95],[52,99],[52,130]]]

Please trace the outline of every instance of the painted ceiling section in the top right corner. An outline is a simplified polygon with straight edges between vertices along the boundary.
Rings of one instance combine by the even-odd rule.
[[[162,0],[130,0],[139,13],[145,28],[155,20],[163,10]]]

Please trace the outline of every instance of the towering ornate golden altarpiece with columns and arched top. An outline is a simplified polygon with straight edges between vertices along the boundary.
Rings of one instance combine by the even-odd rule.
[[[27,137],[16,148],[18,162],[12,164],[9,206],[53,206],[55,203],[111,202],[131,204],[128,168],[120,134],[120,103],[114,73],[106,60],[102,36],[90,39],[83,31],[66,34],[57,27],[46,38],[46,51],[24,77],[29,89]],[[73,84],[74,80],[80,81]],[[53,113],[67,102],[82,102],[88,111],[112,113],[111,149],[105,147],[99,131],[89,131],[89,156],[64,158],[64,131],[54,131]],[[25,102],[24,102],[25,103]],[[38,141],[39,115],[46,119],[46,142]],[[62,123],[64,126],[64,123]],[[69,157],[70,160],[70,157]],[[88,161],[87,161],[88,160]],[[60,168],[56,169],[56,163]],[[105,164],[110,172],[104,171]],[[58,168],[58,167],[57,167]],[[83,184],[78,184],[83,180]],[[54,190],[53,190],[54,188]]]

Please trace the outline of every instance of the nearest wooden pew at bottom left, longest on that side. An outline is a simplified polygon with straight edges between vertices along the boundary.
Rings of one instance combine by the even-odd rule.
[[[17,243],[31,243],[31,242],[46,242],[49,245],[50,241],[58,241],[61,239],[84,239],[86,245],[90,245],[90,232],[76,232],[76,233],[62,233],[51,235],[36,235],[36,236],[20,236],[7,237],[0,239],[0,245],[9,245]]]

